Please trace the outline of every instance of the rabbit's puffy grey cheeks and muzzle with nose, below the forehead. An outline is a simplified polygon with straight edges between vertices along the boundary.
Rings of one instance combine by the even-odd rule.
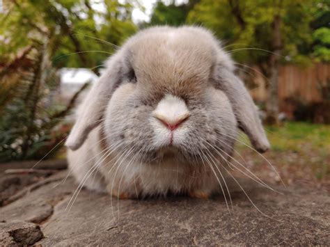
[[[236,120],[226,95],[210,86],[198,99],[186,96],[148,95],[132,83],[120,86],[103,126],[108,144],[120,143],[117,152],[127,150],[127,157],[147,163],[173,157],[194,163],[203,152],[230,154]]]

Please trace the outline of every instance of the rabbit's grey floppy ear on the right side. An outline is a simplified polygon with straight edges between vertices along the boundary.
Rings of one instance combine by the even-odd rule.
[[[249,136],[253,147],[258,152],[266,152],[269,149],[269,142],[258,117],[257,107],[244,83],[228,67],[221,65],[214,67],[213,79],[217,87],[226,93],[233,106],[238,125]]]

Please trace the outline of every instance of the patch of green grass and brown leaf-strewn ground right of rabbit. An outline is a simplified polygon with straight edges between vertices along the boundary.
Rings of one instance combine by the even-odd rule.
[[[330,185],[330,125],[285,122],[281,127],[265,129],[272,150],[264,155],[276,166],[286,183],[308,180]],[[276,177],[256,152],[242,144],[237,145],[237,151],[251,161],[249,168],[253,172],[265,180]]]

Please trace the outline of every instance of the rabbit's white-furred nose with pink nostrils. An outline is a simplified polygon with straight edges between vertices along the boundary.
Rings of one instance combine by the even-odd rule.
[[[189,118],[189,110],[183,99],[173,95],[165,95],[158,103],[152,116],[162,122],[168,129],[177,129]]]

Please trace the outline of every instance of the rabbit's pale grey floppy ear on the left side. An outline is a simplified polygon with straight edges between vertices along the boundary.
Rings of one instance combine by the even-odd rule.
[[[107,102],[121,81],[121,54],[113,55],[107,63],[107,70],[93,84],[78,111],[77,120],[65,145],[71,150],[77,150],[86,140],[89,132],[102,122]]]

